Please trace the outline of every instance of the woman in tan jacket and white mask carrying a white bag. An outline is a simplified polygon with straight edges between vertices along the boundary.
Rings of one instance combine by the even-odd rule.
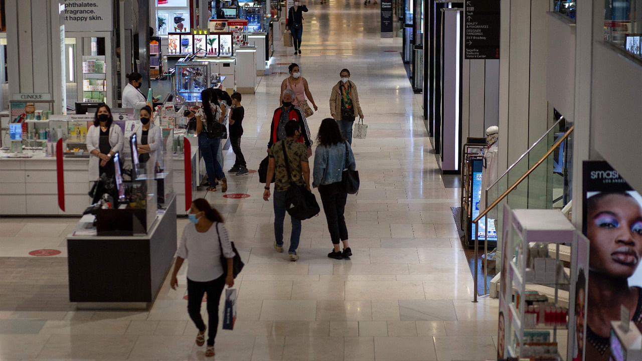
[[[342,69],[341,79],[332,87],[330,94],[330,114],[336,119],[341,135],[352,145],[352,125],[358,115],[363,119],[357,86],[350,80],[350,71]]]

